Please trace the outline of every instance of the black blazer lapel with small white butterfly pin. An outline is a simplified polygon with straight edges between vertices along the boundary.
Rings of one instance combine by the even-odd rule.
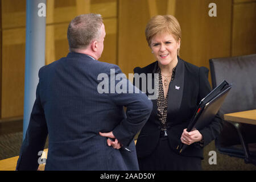
[[[184,61],[178,58],[174,80],[170,82],[168,90],[167,121],[171,121],[178,113],[184,90]]]

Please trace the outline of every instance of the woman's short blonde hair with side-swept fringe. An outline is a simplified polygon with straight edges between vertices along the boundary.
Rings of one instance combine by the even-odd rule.
[[[151,46],[153,36],[162,32],[172,34],[176,41],[181,40],[181,28],[177,19],[172,15],[156,15],[149,20],[146,26],[145,35],[148,46]]]

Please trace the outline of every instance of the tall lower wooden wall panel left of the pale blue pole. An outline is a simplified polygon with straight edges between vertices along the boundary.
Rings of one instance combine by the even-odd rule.
[[[26,29],[3,30],[1,118],[23,115]]]

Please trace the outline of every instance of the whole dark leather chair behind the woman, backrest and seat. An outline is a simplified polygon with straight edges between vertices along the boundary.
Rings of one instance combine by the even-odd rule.
[[[232,84],[219,113],[256,109],[256,54],[210,59],[210,75],[215,88],[223,80]],[[245,159],[256,165],[256,125],[225,121],[215,140],[218,152]]]

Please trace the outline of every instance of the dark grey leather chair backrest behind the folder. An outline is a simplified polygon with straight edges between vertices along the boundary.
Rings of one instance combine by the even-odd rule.
[[[256,109],[256,54],[210,59],[213,88],[223,80],[232,84],[220,115]]]

